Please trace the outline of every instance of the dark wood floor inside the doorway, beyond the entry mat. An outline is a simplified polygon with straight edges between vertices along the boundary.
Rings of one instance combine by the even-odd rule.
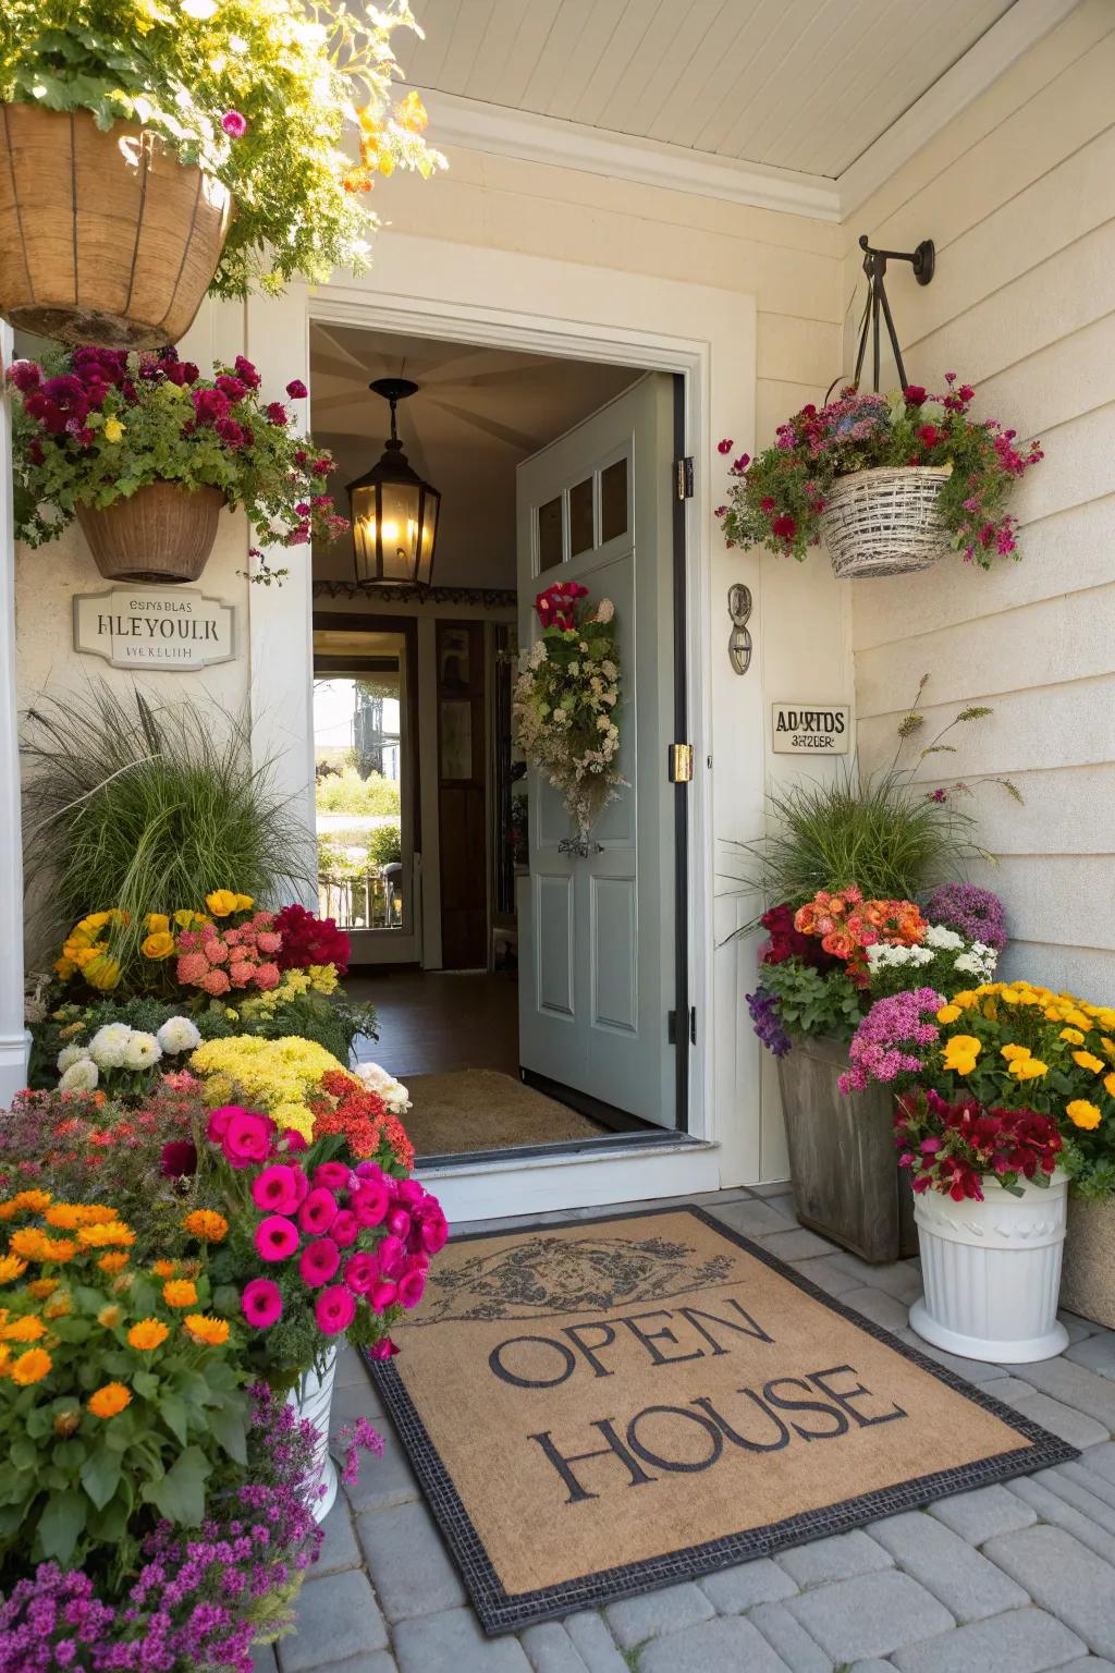
[[[518,984],[508,975],[441,970],[353,972],[353,999],[369,999],[378,1041],[358,1056],[405,1081],[446,1069],[498,1069],[518,1076]]]

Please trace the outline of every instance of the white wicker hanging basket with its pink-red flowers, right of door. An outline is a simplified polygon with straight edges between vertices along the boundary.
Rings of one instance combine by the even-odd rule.
[[[970,417],[975,390],[944,375],[946,393],[841,390],[779,425],[774,447],[731,467],[717,515],[729,545],[804,559],[821,540],[839,577],[898,576],[950,549],[991,567],[1013,554],[1010,490],[1043,457],[995,418]],[[731,442],[720,442],[729,453]]]

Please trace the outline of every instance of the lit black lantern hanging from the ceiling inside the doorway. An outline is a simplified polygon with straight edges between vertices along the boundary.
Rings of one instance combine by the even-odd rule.
[[[441,495],[408,463],[396,428],[396,407],[418,385],[408,378],[376,378],[368,388],[391,407],[391,437],[379,462],[348,485],[356,581],[428,587]]]

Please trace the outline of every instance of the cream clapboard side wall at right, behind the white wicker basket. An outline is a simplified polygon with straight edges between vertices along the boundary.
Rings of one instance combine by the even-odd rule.
[[[888,274],[909,380],[956,371],[1046,455],[1016,494],[1021,562],[851,584],[861,751],[889,751],[924,671],[929,719],[993,706],[948,773],[1006,773],[1025,806],[978,793],[1000,865],[973,880],[1006,902],[1011,972],[1097,999],[1115,989],[1113,84],[1115,10],[1085,0],[856,212],[844,266],[849,296],[851,234],[933,238],[928,288]],[[849,336],[861,306],[863,283]]]

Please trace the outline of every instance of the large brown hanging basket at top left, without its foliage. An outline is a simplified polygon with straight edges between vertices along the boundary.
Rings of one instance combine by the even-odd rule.
[[[0,313],[64,343],[160,348],[194,321],[231,199],[132,122],[0,105]]]

